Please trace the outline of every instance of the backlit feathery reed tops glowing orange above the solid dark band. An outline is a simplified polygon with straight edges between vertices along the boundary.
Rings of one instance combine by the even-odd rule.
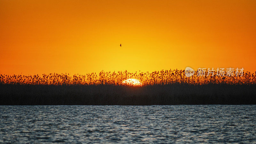
[[[205,72],[207,73],[207,71]],[[232,84],[232,85],[253,85],[256,84],[256,72],[243,72],[239,76],[218,76],[216,72],[204,76],[195,75],[186,77],[185,70],[162,70],[155,72],[104,72],[87,73],[84,75],[69,73],[50,73],[42,75],[0,75],[0,84],[20,85],[124,85],[122,82],[127,79],[139,80],[141,86],[169,85],[169,84]]]

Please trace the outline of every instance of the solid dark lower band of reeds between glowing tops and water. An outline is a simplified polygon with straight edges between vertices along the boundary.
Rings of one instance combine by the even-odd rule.
[[[256,104],[256,85],[0,84],[0,105],[207,105]]]

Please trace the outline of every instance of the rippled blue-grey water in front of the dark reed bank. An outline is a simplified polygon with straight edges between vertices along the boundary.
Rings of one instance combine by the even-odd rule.
[[[0,106],[0,143],[256,142],[256,105]]]

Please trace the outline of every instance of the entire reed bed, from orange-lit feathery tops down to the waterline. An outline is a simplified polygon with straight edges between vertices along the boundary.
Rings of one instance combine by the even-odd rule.
[[[0,75],[0,105],[256,104],[256,72],[186,77],[184,70]],[[139,80],[141,86],[122,83]]]

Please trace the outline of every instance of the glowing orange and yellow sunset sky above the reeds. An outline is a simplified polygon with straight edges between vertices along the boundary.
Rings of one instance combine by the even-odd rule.
[[[0,50],[2,74],[254,72],[256,1],[0,0]]]

